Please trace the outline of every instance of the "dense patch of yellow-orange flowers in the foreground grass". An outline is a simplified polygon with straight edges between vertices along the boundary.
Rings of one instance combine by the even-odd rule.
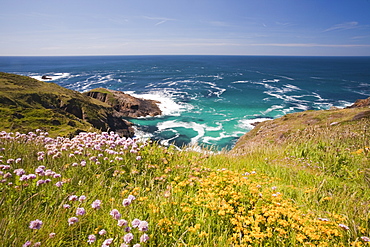
[[[268,245],[273,243],[295,246],[325,246],[339,243],[342,230],[336,218],[322,220],[299,209],[291,200],[271,186],[272,180],[256,172],[239,174],[227,169],[211,172],[199,179],[195,196],[184,203],[182,211],[207,209],[212,217],[229,224],[233,246]],[[177,188],[188,185],[179,182]],[[181,191],[181,189],[176,190]],[[199,224],[188,231],[199,230]],[[204,235],[204,234],[203,234]]]

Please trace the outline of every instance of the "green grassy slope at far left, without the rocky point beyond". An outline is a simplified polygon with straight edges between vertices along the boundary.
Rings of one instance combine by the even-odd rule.
[[[26,76],[0,72],[0,129],[27,133],[42,127],[53,137],[129,125],[108,104]],[[115,126],[114,126],[115,125]]]

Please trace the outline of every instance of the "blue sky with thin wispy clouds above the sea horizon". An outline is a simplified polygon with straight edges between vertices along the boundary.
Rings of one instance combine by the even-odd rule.
[[[0,2],[1,56],[370,56],[370,0]]]

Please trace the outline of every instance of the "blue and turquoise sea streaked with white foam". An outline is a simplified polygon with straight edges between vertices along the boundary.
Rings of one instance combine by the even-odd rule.
[[[255,122],[370,96],[370,57],[0,57],[0,71],[158,100],[162,116],[129,119],[137,135],[219,149],[231,148]]]

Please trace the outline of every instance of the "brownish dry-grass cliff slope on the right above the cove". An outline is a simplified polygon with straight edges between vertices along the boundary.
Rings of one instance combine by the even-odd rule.
[[[344,109],[309,110],[284,115],[274,120],[256,123],[254,129],[239,138],[231,153],[243,154],[266,145],[286,145],[294,142],[300,133],[326,129],[346,133],[358,121],[370,121],[370,97],[359,99]]]

